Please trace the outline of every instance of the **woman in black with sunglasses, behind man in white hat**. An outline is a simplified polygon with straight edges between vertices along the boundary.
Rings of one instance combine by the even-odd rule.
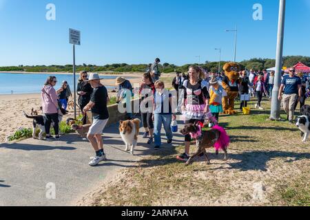
[[[79,95],[79,106],[81,111],[83,111],[84,107],[90,102],[90,96],[93,91],[92,86],[87,82],[87,76],[87,72],[80,72],[79,84],[76,89]]]

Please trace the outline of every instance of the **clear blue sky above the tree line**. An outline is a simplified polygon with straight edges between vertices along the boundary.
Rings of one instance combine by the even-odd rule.
[[[56,21],[47,21],[48,3]],[[263,20],[254,21],[254,3]],[[278,0],[0,0],[0,66],[72,63],[68,29],[81,30],[76,63],[183,65],[275,58]],[[284,55],[310,56],[310,0],[287,0]]]

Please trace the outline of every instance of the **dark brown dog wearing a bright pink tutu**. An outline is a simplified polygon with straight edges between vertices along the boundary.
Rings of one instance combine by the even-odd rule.
[[[186,165],[191,164],[193,159],[201,154],[205,155],[207,164],[210,164],[210,160],[205,149],[211,147],[216,148],[216,154],[218,154],[218,150],[222,149],[225,153],[224,160],[227,160],[229,137],[222,127],[216,125],[209,131],[201,131],[201,126],[198,124],[186,124],[180,133],[183,135],[192,135],[192,137],[196,139],[196,145],[198,147],[197,152],[192,155],[192,157],[189,157]]]

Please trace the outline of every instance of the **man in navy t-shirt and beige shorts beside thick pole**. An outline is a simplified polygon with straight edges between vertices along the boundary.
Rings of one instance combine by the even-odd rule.
[[[289,69],[289,76],[285,76],[282,79],[278,99],[282,100],[285,113],[288,115],[288,120],[293,123],[294,117],[294,105],[296,100],[300,100],[302,97],[301,80],[298,76],[295,76],[295,68]],[[284,91],[282,97],[282,91]]]

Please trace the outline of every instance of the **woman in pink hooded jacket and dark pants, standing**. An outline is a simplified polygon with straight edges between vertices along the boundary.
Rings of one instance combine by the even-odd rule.
[[[52,123],[55,131],[55,139],[59,140],[59,104],[54,86],[57,80],[55,76],[49,76],[42,89],[42,107],[43,114],[46,116],[45,122],[45,140],[53,140],[54,137],[50,135],[50,124]]]

